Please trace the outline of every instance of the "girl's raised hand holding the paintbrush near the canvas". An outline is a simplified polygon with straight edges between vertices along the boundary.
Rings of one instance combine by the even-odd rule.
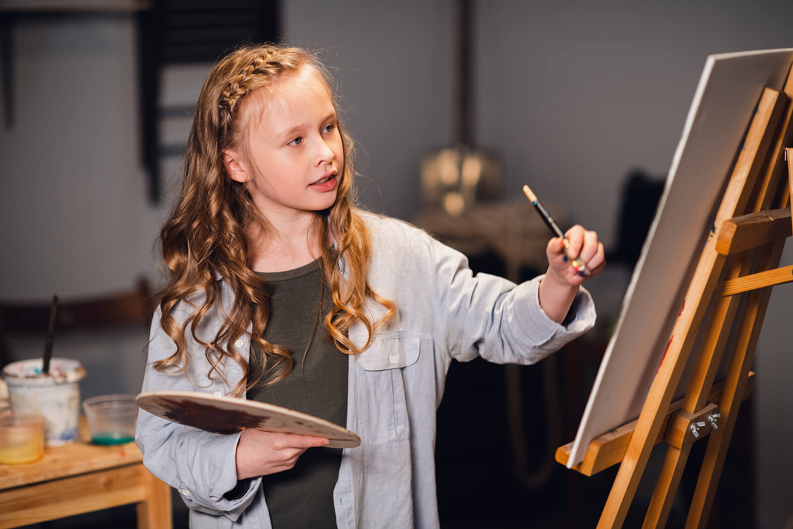
[[[563,239],[554,237],[548,242],[546,247],[548,274],[552,274],[554,280],[560,284],[579,286],[588,278],[598,274],[606,265],[603,243],[598,242],[596,232],[590,232],[579,224],[567,230],[565,239],[568,242],[567,257],[569,259],[565,259]],[[582,274],[573,266],[573,261],[578,257],[584,261],[589,274]]]

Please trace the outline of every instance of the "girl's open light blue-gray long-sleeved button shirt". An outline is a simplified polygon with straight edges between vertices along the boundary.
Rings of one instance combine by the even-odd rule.
[[[537,362],[592,328],[594,305],[580,289],[573,301],[576,316],[562,326],[539,306],[542,277],[518,286],[489,274],[473,277],[464,255],[425,232],[400,220],[359,213],[371,237],[370,286],[394,301],[399,311],[366,351],[350,356],[346,426],[362,443],[343,450],[333,493],[336,523],[340,529],[439,527],[435,412],[452,358],[465,362],[479,355],[497,363]],[[233,303],[232,290],[222,283],[223,307],[210,311],[197,328],[206,342],[220,328],[220,311],[228,311]],[[192,310],[186,303],[178,305],[176,323],[181,325]],[[366,310],[373,320],[385,312],[374,301]],[[366,328],[355,325],[349,336],[362,346]],[[195,385],[184,373],[151,367],[151,362],[176,351],[159,326],[158,309],[151,324],[143,391],[228,395],[242,376],[239,365],[228,362],[225,380],[209,380],[203,347],[190,333],[186,339],[191,351],[188,373]],[[248,358],[248,337],[229,345]],[[238,440],[239,434],[209,433],[142,410],[138,416],[136,442],[144,465],[182,493],[190,507],[190,527],[270,527],[261,477],[252,479],[239,499],[224,498],[237,484]]]

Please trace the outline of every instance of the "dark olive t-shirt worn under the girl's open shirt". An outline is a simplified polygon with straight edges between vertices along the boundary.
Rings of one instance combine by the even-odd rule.
[[[260,379],[247,392],[247,398],[346,426],[349,358],[331,343],[323,325],[333,303],[328,286],[322,288],[320,260],[295,270],[259,275],[266,280],[270,293],[264,339],[289,347],[294,363],[286,378],[274,385],[266,386],[266,378]],[[318,310],[320,320],[316,323]],[[261,358],[262,351],[252,344],[251,374],[261,372]],[[292,469],[262,477],[274,529],[336,527],[333,489],[339,479],[341,457],[338,448],[308,448]]]

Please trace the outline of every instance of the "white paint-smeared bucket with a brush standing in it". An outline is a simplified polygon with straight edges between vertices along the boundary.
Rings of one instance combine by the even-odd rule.
[[[33,358],[3,368],[11,411],[17,415],[44,416],[44,446],[74,443],[80,418],[79,381],[86,371],[80,362],[69,358],[52,358],[46,375],[41,373],[41,365],[41,358]]]

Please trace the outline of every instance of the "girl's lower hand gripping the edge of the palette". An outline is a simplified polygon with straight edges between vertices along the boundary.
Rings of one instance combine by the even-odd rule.
[[[330,440],[313,435],[245,428],[237,443],[237,479],[289,470],[307,448],[324,447],[329,443]]]

